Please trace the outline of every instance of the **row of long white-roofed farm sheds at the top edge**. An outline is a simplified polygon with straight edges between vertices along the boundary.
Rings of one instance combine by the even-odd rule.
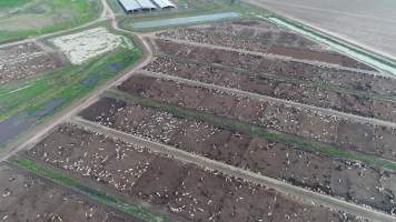
[[[168,0],[118,0],[126,12],[176,8]]]

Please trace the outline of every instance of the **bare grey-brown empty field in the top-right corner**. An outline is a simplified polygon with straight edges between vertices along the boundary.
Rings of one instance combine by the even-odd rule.
[[[396,58],[396,8],[388,0],[258,0],[249,1],[331,36]]]

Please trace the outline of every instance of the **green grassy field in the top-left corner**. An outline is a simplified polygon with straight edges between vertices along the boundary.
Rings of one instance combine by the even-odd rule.
[[[71,29],[98,18],[99,0],[0,0],[0,42]],[[1,10],[1,4],[10,6]],[[20,8],[18,8],[18,6]]]

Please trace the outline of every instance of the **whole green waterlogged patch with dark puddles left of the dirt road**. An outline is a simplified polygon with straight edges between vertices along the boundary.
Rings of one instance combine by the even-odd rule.
[[[0,124],[0,131],[8,133],[0,137],[0,148],[11,148],[34,125],[138,62],[142,52],[132,46],[131,40],[128,41],[129,47],[119,47],[82,64],[69,64],[36,79],[1,85],[0,123],[3,124]]]

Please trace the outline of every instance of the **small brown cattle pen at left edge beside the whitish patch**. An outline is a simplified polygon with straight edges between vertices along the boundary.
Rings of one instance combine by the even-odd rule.
[[[0,84],[33,77],[65,65],[57,52],[49,52],[36,43],[0,48]]]

